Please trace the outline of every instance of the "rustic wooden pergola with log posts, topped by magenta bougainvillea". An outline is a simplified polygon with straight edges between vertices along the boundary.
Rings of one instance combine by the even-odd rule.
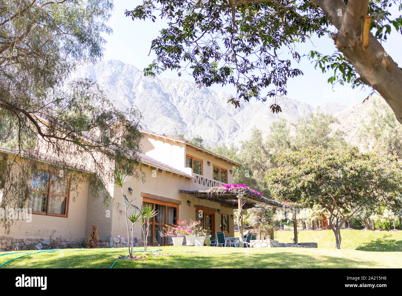
[[[247,196],[238,196],[235,193],[230,193],[226,191],[218,191],[209,193],[205,190],[179,190],[183,194],[191,195],[193,197],[197,197],[198,199],[205,199],[208,201],[214,201],[223,205],[224,207],[229,207],[232,209],[238,209],[239,211],[239,239],[240,244],[243,247],[243,209],[250,209],[254,207],[256,204],[270,205],[274,209],[289,209],[293,213],[296,213],[296,209],[291,207],[290,205],[286,205],[284,203],[280,203],[279,201],[274,201],[272,199],[267,199],[265,197],[251,194]],[[295,244],[298,244],[297,241],[297,217],[293,217],[293,228],[295,235]]]

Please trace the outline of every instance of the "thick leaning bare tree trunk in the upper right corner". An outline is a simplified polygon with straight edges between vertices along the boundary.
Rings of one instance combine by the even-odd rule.
[[[312,0],[338,29],[332,39],[345,60],[353,65],[361,80],[385,99],[402,123],[402,71],[377,38],[365,29],[369,0]],[[340,14],[340,15],[339,15]],[[367,41],[365,41],[367,40]]]

